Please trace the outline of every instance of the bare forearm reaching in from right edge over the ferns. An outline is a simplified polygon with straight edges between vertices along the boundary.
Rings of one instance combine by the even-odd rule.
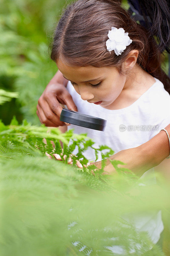
[[[165,129],[170,135],[170,124],[166,126]],[[165,159],[167,156],[169,156],[169,150],[169,140],[167,134],[165,131],[161,131],[151,140],[145,142],[137,148],[121,150],[115,155],[110,156],[110,159],[119,160],[125,163],[125,165],[119,164],[118,167],[128,168],[129,170],[135,172],[138,176],[142,176],[144,172],[157,166],[157,171],[162,171],[166,177],[170,178],[170,159]],[[101,168],[101,161],[91,164]],[[163,170],[164,168],[166,169],[165,171]],[[110,163],[109,159],[107,160],[105,171],[106,172],[103,174],[111,174],[115,172],[115,169]]]

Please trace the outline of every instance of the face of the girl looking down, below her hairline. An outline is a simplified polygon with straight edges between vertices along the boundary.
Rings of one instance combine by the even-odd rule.
[[[61,60],[56,64],[63,76],[70,80],[82,100],[90,103],[101,101],[100,105],[103,107],[109,106],[116,100],[126,82],[126,75],[120,75],[114,67],[70,67]]]

